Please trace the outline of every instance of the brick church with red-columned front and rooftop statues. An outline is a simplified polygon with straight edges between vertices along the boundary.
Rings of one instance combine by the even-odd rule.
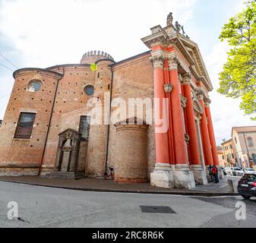
[[[172,22],[170,13],[166,27],[142,39],[149,50],[121,62],[93,51],[80,64],[15,71],[0,127],[0,175],[111,173],[117,182],[161,188],[207,184],[207,166],[219,166],[213,87],[198,45]]]

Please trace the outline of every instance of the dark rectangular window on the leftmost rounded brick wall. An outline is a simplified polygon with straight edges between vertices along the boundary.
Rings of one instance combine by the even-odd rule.
[[[21,112],[14,138],[30,139],[36,114]]]

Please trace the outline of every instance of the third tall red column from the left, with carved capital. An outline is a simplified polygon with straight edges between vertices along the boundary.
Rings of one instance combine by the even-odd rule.
[[[191,96],[191,77],[189,74],[185,74],[183,77],[183,91],[184,96],[187,98],[187,104],[185,108],[186,112],[186,124],[188,128],[189,136],[189,151],[190,151],[190,163],[191,165],[201,165],[199,146],[198,146],[198,134],[194,120],[194,107],[193,99]]]

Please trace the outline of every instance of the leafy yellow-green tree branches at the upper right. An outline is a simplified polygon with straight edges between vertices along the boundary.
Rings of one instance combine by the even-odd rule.
[[[240,109],[256,121],[256,0],[229,19],[220,34],[230,46],[228,60],[220,73],[219,93],[241,98]]]

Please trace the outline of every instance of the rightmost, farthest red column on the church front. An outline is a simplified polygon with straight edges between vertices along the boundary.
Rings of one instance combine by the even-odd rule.
[[[208,121],[208,131],[209,131],[209,137],[210,137],[211,151],[213,155],[213,163],[214,163],[214,166],[220,166],[217,148],[216,148],[214,129],[213,129],[213,121],[210,114],[210,103],[205,103],[205,112],[206,112],[207,121]]]

